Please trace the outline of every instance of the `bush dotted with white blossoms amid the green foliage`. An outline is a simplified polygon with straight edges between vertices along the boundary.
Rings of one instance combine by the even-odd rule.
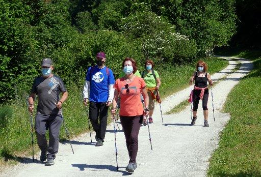
[[[189,37],[175,32],[175,26],[153,12],[136,12],[123,19],[121,30],[131,39],[142,39],[145,57],[156,63],[182,63],[196,55],[196,45]]]

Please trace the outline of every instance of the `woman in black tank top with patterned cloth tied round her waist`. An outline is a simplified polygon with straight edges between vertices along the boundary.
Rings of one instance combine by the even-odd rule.
[[[190,84],[192,85],[193,81],[195,81],[194,90],[193,90],[193,119],[191,125],[194,125],[197,120],[197,109],[199,100],[202,100],[203,114],[204,114],[204,126],[208,127],[207,118],[208,118],[208,110],[207,110],[207,100],[208,100],[208,88],[207,82],[210,85],[213,85],[213,81],[211,80],[211,76],[207,73],[207,65],[203,61],[198,61],[196,65],[196,72],[193,73]]]

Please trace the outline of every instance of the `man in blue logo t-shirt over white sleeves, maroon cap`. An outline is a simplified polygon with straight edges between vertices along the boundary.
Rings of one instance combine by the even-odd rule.
[[[88,69],[84,84],[84,104],[87,106],[88,98],[89,118],[93,130],[96,132],[96,146],[103,145],[106,128],[108,108],[114,96],[114,75],[111,69],[105,66],[106,54],[98,52],[96,64]],[[99,123],[98,123],[99,117]]]

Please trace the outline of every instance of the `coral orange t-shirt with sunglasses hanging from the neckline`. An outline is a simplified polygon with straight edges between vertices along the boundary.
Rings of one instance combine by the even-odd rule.
[[[143,114],[143,106],[141,103],[141,90],[146,86],[145,81],[135,76],[131,83],[128,83],[129,93],[126,93],[125,78],[119,78],[115,81],[114,88],[120,94],[120,115],[136,116]]]

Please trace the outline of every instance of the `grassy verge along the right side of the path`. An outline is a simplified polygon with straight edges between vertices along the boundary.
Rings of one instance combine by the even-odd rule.
[[[209,176],[261,175],[261,53],[237,56],[254,60],[254,70],[228,95],[224,111],[231,119],[211,158]]]

